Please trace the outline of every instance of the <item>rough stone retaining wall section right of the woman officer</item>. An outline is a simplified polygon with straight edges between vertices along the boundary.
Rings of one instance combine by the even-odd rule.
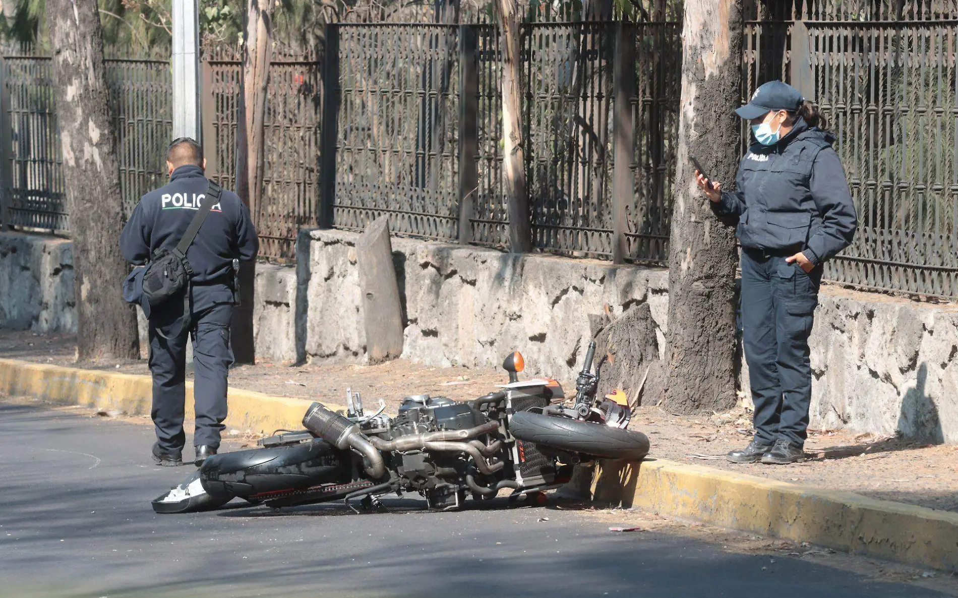
[[[955,304],[826,287],[810,346],[813,427],[958,443]]]

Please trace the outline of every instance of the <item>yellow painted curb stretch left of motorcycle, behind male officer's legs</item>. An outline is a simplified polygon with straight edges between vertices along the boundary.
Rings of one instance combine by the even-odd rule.
[[[149,376],[0,359],[0,392],[11,396],[116,409],[127,415],[149,415],[152,388]],[[227,399],[229,415],[225,426],[262,433],[279,428],[301,429],[310,403],[235,388],[229,389]],[[193,382],[186,384],[186,417],[194,418]]]

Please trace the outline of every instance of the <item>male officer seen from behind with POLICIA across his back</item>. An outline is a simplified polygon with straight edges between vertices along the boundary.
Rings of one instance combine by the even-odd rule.
[[[126,260],[143,265],[159,248],[172,249],[203,204],[208,181],[206,159],[193,139],[181,137],[167,151],[170,183],[140,199],[126,222],[120,248]],[[153,459],[159,465],[182,465],[186,444],[186,343],[193,336],[195,458],[198,467],[216,454],[226,419],[227,369],[233,363],[230,317],[236,305],[234,261],[256,258],[259,240],[249,209],[236,194],[223,191],[187,249],[193,268],[187,287],[192,323],[183,326],[184,301],[171,300],[148,313],[149,370],[153,375],[152,418],[156,427]],[[192,290],[191,290],[192,288]]]

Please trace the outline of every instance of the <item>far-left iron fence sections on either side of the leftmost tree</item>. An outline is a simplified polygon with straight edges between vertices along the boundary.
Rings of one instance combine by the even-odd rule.
[[[59,133],[50,58],[8,56],[0,64],[3,127],[0,173],[4,224],[67,231]],[[106,82],[117,135],[117,208],[129,214],[140,196],[165,180],[163,152],[172,129],[166,61],[107,59]]]

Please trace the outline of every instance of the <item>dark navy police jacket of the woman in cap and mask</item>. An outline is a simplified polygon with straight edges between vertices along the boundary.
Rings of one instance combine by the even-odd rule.
[[[742,247],[771,255],[801,251],[819,265],[852,242],[855,204],[834,139],[799,118],[778,144],[748,149],[737,191],[723,191],[711,204],[719,219],[738,224]]]

